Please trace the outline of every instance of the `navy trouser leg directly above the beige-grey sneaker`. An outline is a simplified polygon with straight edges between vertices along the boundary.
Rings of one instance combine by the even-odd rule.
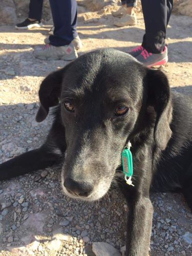
[[[54,35],[49,37],[53,46],[66,46],[73,40],[71,8],[75,0],[50,0],[53,16]]]

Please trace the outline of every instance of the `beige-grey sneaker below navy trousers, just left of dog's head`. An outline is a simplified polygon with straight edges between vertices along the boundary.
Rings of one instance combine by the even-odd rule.
[[[36,49],[33,52],[35,58],[38,59],[63,59],[63,60],[74,60],[76,59],[77,52],[72,44],[68,46],[52,46],[52,45],[45,45],[40,49]]]

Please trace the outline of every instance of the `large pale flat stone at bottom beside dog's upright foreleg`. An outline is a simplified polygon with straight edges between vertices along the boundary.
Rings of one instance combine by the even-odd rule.
[[[121,256],[116,248],[104,242],[93,243],[92,250],[96,256]]]

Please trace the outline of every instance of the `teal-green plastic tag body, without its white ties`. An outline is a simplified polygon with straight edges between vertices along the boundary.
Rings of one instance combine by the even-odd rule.
[[[129,148],[125,147],[121,153],[123,173],[130,177],[133,175],[133,158]]]

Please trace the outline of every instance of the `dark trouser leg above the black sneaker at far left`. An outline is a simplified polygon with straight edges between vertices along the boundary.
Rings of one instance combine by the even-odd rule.
[[[29,19],[41,20],[43,0],[30,0],[29,3]]]

